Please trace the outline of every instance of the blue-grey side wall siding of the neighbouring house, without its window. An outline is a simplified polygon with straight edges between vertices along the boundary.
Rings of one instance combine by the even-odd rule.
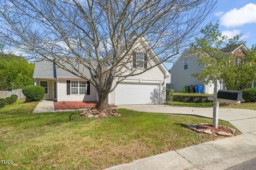
[[[185,59],[188,60],[187,70],[184,70]],[[197,85],[204,86],[203,92],[209,91],[203,82],[191,76],[193,73],[201,73],[201,69],[204,69],[204,65],[200,65],[197,61],[197,57],[185,50],[171,69],[171,87],[175,92],[180,92],[183,86]]]

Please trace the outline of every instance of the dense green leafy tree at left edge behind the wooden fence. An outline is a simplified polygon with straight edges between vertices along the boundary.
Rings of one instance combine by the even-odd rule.
[[[0,54],[0,90],[20,89],[32,85],[35,64],[22,57]]]

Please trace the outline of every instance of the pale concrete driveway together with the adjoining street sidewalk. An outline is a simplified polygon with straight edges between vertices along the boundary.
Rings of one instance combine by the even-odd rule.
[[[212,108],[167,105],[126,105],[141,112],[199,115],[212,118]],[[221,120],[229,121],[243,134],[135,160],[108,168],[119,169],[227,169],[256,158],[256,111],[220,108]]]

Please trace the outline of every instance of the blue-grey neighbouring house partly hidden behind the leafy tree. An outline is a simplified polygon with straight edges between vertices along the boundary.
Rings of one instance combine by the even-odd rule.
[[[236,63],[238,64],[241,62],[241,57],[245,55],[247,48],[242,44],[222,48],[221,50],[226,53],[235,54],[237,56]],[[171,88],[176,92],[180,92],[183,86],[203,86],[203,93],[213,94],[213,83],[205,84],[191,76],[194,73],[201,73],[202,69],[205,69],[205,65],[199,64],[197,56],[190,54],[189,50],[185,49],[171,68]],[[223,88],[223,84],[221,86]]]

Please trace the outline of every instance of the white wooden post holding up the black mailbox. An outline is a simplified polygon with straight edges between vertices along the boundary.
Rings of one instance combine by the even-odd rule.
[[[213,94],[213,127],[218,128],[219,122],[219,100],[218,91],[220,89],[220,82],[216,80],[214,82],[214,94]]]

